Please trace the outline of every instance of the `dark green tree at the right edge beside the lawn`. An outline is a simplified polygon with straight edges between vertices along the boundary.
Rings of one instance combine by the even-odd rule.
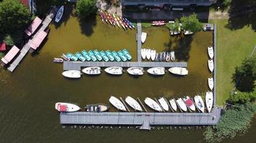
[[[237,66],[232,76],[232,82],[241,92],[252,92],[256,80],[256,57],[245,59],[241,66]]]

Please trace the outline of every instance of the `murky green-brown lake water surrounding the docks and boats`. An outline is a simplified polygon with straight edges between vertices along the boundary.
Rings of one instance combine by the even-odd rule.
[[[68,20],[67,20],[68,19]],[[55,102],[86,104],[105,103],[116,97],[193,97],[206,92],[207,46],[212,44],[212,32],[198,32],[193,36],[170,36],[168,29],[152,27],[143,47],[160,51],[175,51],[177,61],[188,62],[188,76],[176,77],[168,71],[163,77],[109,76],[104,71],[91,77],[69,80],[62,76],[63,65],[52,62],[62,53],[82,49],[119,50],[127,48],[136,61],[136,31],[123,31],[103,24],[99,17],[80,24],[70,16],[61,25],[50,25],[50,34],[40,51],[28,54],[14,73],[0,69],[0,142],[204,142],[204,129],[157,129],[150,132],[135,129],[63,129]],[[167,69],[166,69],[167,70]],[[110,104],[109,104],[110,105]],[[116,111],[111,107],[111,112]],[[254,130],[253,130],[254,129]],[[256,125],[246,137],[225,142],[251,142]]]

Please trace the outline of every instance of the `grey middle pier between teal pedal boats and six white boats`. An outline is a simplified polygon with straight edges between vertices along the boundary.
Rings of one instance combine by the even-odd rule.
[[[63,70],[81,70],[81,67],[88,66],[122,66],[122,67],[187,67],[186,62],[138,62],[138,61],[126,61],[126,62],[105,62],[105,61],[64,61]]]

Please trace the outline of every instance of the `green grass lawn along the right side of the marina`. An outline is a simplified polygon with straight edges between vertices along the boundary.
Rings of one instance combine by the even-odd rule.
[[[231,30],[227,19],[211,20],[217,24],[217,104],[223,105],[234,84],[232,74],[242,60],[249,57],[256,45],[256,32],[251,26]]]

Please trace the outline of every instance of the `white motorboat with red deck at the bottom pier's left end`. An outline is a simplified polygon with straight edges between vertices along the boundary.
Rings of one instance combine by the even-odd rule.
[[[55,103],[55,109],[57,109],[58,112],[77,112],[81,108],[76,104],[57,102]]]

